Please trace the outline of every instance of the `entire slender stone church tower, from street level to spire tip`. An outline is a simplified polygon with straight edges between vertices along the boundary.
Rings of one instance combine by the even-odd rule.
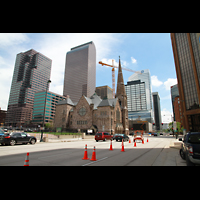
[[[117,93],[115,98],[118,98],[119,104],[121,106],[122,112],[122,124],[123,124],[123,133],[129,134],[129,122],[128,122],[128,109],[127,109],[127,95],[125,91],[124,79],[122,74],[122,67],[119,57],[119,68],[118,68],[118,78],[117,78]]]

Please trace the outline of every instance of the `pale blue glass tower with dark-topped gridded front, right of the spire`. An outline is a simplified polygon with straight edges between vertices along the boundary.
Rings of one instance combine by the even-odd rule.
[[[141,118],[143,121],[152,123],[153,112],[149,70],[145,69],[141,74],[135,73],[130,76],[125,88],[129,119]]]

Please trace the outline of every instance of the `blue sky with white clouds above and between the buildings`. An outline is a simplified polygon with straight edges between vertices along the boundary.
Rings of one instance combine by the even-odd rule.
[[[90,41],[96,46],[96,87],[112,88],[111,68],[101,66],[99,61],[112,64],[114,59],[118,65],[120,56],[122,67],[135,71],[149,69],[152,92],[160,96],[162,122],[170,122],[170,86],[177,84],[170,33],[0,33],[1,109],[7,110],[18,53],[34,49],[52,59],[50,91],[62,95],[66,53]],[[125,84],[132,74],[123,70]]]

